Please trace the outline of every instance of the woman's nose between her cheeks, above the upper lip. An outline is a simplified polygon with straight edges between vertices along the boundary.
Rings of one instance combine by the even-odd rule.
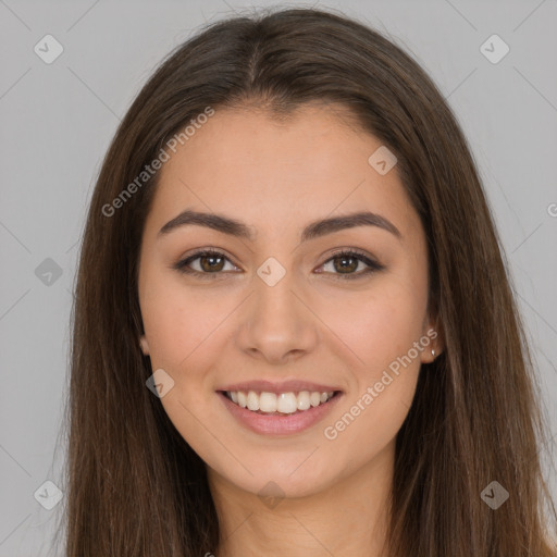
[[[239,348],[252,358],[280,366],[311,352],[319,342],[319,319],[293,274],[287,272],[272,286],[253,278],[236,336]]]

